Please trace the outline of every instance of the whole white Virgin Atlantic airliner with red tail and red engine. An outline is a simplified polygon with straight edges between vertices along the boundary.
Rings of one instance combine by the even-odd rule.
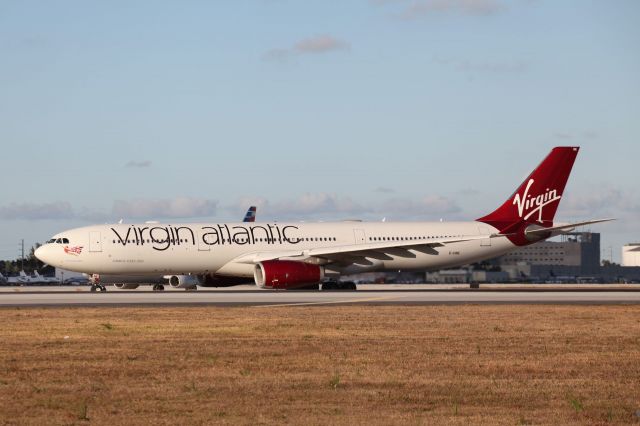
[[[262,289],[353,289],[341,275],[461,266],[612,220],[554,222],[578,151],[553,148],[503,204],[474,221],[96,225],[63,231],[35,255],[94,277],[193,274],[205,285],[253,278]]]

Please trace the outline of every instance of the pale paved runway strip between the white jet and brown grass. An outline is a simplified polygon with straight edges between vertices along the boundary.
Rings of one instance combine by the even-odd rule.
[[[313,305],[443,305],[443,304],[640,304],[640,289],[398,288],[367,286],[358,291],[271,291],[255,287],[198,291],[107,291],[86,287],[20,288],[0,292],[0,307],[27,306],[313,306]]]

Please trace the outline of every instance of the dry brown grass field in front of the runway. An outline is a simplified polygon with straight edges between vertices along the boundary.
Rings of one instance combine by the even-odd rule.
[[[640,306],[0,309],[1,424],[640,423]]]

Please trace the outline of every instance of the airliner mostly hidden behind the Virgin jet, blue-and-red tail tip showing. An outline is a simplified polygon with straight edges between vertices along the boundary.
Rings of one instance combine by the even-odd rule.
[[[243,222],[255,222],[256,220],[256,206],[250,206],[247,209],[247,213],[244,216]],[[91,275],[85,274],[87,277],[91,277]],[[102,275],[99,277],[99,280],[102,284],[113,284],[115,288],[118,290],[135,290],[140,286],[140,283],[151,284],[153,287],[153,291],[163,291],[164,284],[166,282],[172,288],[182,288],[185,290],[197,290],[198,285],[205,285],[205,283],[200,283],[198,279],[191,274],[169,274],[169,275],[156,275],[156,276],[148,276],[148,275]],[[244,282],[247,282],[245,279]],[[210,286],[214,283],[209,283]]]

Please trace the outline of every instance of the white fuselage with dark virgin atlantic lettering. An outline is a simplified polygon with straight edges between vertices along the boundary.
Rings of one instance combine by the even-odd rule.
[[[38,249],[38,257],[53,266],[89,274],[252,277],[253,264],[234,260],[251,253],[302,252],[497,232],[481,222],[114,224],[62,232],[53,239],[63,237],[69,243],[45,244]],[[330,262],[326,266],[338,274],[440,269],[488,259],[514,247],[507,238],[476,239],[429,250],[387,252],[382,258],[367,257],[367,265]]]

